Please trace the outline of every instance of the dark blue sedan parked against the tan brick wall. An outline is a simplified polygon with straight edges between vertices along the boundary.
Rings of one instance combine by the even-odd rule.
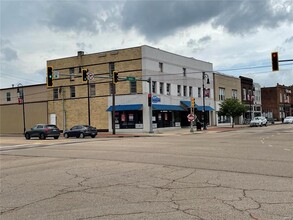
[[[64,137],[77,137],[84,138],[85,136],[91,136],[92,138],[96,137],[98,131],[95,127],[89,125],[75,125],[70,130],[64,132]]]

